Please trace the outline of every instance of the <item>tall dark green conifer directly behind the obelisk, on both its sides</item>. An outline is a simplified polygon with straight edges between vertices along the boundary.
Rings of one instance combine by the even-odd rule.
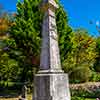
[[[16,24],[10,31],[10,38],[15,40],[17,50],[21,51],[24,57],[20,59],[20,64],[23,66],[22,73],[24,74],[27,74],[30,69],[32,70],[32,67],[30,66],[39,66],[40,33],[43,19],[43,14],[39,10],[39,4],[40,0],[35,0],[34,2],[33,0],[24,0],[22,3],[18,2],[17,15],[15,17]],[[65,56],[65,54],[67,55],[71,48],[70,40],[72,29],[67,25],[68,16],[60,4],[59,6],[56,16],[61,59],[63,62],[67,57],[63,56]],[[63,39],[66,40],[66,42],[64,42]]]

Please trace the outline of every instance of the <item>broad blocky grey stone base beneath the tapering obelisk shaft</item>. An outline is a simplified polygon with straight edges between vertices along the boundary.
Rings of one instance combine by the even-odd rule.
[[[70,100],[68,75],[39,73],[34,78],[32,100]]]

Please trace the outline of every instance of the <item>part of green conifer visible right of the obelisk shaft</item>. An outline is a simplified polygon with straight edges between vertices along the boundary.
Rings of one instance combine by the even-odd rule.
[[[68,53],[72,51],[72,39],[74,34],[72,32],[71,27],[68,25],[68,15],[61,5],[56,12],[56,18],[61,61],[63,64],[64,60],[68,57]]]

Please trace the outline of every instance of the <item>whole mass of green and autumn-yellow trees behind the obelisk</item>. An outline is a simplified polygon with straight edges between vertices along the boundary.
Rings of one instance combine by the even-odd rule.
[[[92,74],[99,71],[99,38],[90,36],[84,29],[73,31],[67,13],[58,0],[57,3],[60,6],[56,20],[62,68],[73,82],[89,81]],[[39,4],[40,0],[24,0],[17,3],[16,14],[0,17],[3,20],[0,36],[6,37],[0,41],[2,80],[32,82],[33,73],[38,70],[43,19]]]

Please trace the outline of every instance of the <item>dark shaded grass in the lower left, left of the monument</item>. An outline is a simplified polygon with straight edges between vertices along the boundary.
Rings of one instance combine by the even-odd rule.
[[[28,92],[31,93],[32,87],[30,84],[22,82],[0,82],[0,98],[16,98],[22,94],[22,88],[24,85],[27,86]],[[30,90],[30,91],[29,91]]]

